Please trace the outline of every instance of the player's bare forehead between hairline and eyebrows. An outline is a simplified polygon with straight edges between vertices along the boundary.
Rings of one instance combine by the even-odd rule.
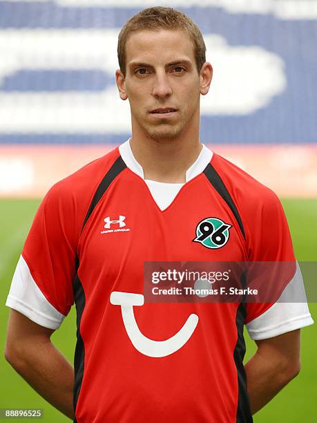
[[[126,66],[131,62],[168,63],[177,57],[195,62],[193,41],[182,30],[142,30],[126,41]]]

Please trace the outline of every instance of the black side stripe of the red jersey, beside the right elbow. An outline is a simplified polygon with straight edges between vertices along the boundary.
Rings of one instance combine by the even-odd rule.
[[[233,359],[236,364],[238,374],[238,406],[237,406],[237,423],[252,423],[253,418],[250,409],[249,394],[247,391],[247,377],[243,366],[245,354],[245,342],[243,337],[243,327],[247,311],[245,303],[240,303],[237,309],[236,326],[238,339],[236,347],[233,351]]]

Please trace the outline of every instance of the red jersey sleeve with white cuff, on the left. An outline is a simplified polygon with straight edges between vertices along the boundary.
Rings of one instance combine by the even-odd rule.
[[[73,304],[77,238],[75,202],[60,182],[42,201],[15,274],[6,305],[57,329]]]

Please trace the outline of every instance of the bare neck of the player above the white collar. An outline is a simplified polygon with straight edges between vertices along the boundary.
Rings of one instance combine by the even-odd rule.
[[[158,182],[186,182],[186,171],[202,150],[199,135],[186,135],[173,140],[153,140],[147,136],[133,136],[130,140],[135,160],[142,166],[144,179]]]

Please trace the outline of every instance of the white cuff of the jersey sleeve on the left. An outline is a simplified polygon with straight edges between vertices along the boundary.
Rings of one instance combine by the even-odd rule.
[[[64,314],[56,310],[44,297],[22,256],[13,275],[6,306],[49,329],[58,329],[65,318]]]

